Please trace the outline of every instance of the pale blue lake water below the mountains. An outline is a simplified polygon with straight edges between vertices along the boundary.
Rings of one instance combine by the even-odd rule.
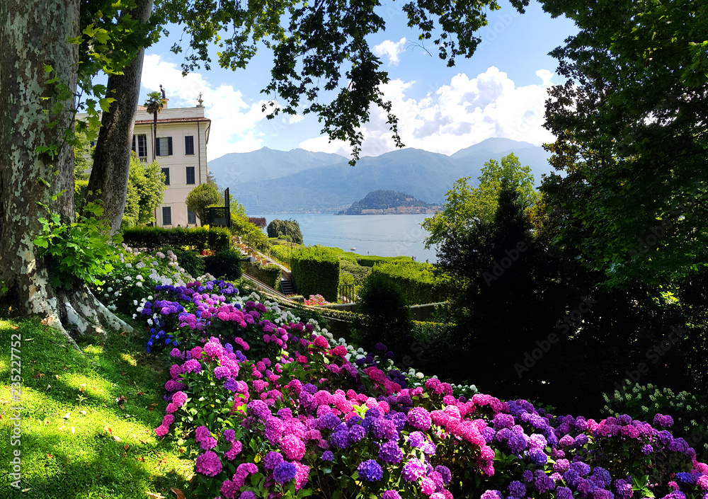
[[[423,239],[428,232],[421,228],[432,215],[333,215],[326,213],[250,214],[249,217],[293,219],[300,225],[305,244],[333,246],[360,255],[414,256],[430,263],[438,261],[435,248],[426,249]]]

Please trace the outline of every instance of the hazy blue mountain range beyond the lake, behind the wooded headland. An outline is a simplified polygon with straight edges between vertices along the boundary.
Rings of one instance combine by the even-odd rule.
[[[542,174],[552,171],[550,154],[542,147],[498,138],[450,156],[397,149],[365,156],[356,166],[338,154],[264,147],[214,159],[209,171],[219,187],[228,187],[249,213],[338,212],[373,190],[403,191],[418,200],[442,204],[455,180],[465,176],[476,180],[486,161],[500,161],[512,152],[522,165],[531,167],[537,185]]]

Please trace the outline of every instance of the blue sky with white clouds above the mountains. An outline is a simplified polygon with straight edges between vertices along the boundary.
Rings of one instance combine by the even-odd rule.
[[[379,14],[387,29],[370,40],[384,62],[391,81],[384,93],[399,117],[399,131],[406,147],[452,154],[489,137],[506,137],[533,144],[550,142],[543,129],[543,104],[547,87],[561,83],[556,61],[548,54],[576,33],[571,21],[552,19],[533,2],[525,14],[508,3],[489,13],[482,28],[482,43],[470,59],[457,59],[448,68],[432,44],[418,43],[418,33],[406,26],[401,2],[387,1]],[[149,91],[166,88],[170,107],[195,105],[199,93],[207,117],[212,119],[208,159],[229,152],[247,152],[261,147],[290,150],[300,147],[348,156],[347,144],[329,142],[321,135],[314,115],[279,115],[266,120],[261,105],[268,96],[260,93],[268,84],[271,59],[262,50],[244,70],[199,69],[181,76],[181,55],[169,48],[180,38],[178,28],[169,38],[146,51],[141,99]],[[215,58],[214,58],[215,59]],[[385,115],[372,110],[363,128],[363,156],[378,156],[395,149],[385,124]]]

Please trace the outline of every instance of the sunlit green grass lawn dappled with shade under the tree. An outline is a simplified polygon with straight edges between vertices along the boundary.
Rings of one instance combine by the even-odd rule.
[[[21,336],[19,446],[11,445],[12,335]],[[0,498],[156,498],[188,488],[191,461],[154,434],[169,365],[145,353],[142,338],[109,333],[103,344],[81,344],[81,354],[38,321],[11,319],[0,319],[0,338]],[[11,486],[15,450],[21,489]]]

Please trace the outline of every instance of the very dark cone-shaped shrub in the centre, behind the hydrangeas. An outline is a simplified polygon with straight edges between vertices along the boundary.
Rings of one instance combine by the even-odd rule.
[[[411,309],[401,288],[383,275],[372,273],[359,293],[359,319],[353,324],[353,342],[368,352],[384,343],[404,356],[412,343]],[[396,357],[398,358],[398,357]]]

